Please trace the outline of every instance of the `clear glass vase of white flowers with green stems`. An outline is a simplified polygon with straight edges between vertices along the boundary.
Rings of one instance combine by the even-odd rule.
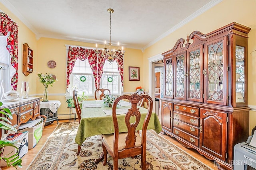
[[[44,85],[44,99],[42,102],[48,102],[48,90],[47,88],[49,86],[52,86],[52,84],[54,82],[56,82],[58,79],[56,79],[56,77],[53,74],[43,74],[43,73],[39,73],[37,74],[39,77],[39,81],[40,83],[42,83]]]

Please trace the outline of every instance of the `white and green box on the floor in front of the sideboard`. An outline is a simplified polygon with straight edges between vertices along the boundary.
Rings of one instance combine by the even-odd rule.
[[[34,148],[41,139],[43,134],[43,122],[44,119],[36,119],[20,125],[18,132],[28,131],[28,149]]]

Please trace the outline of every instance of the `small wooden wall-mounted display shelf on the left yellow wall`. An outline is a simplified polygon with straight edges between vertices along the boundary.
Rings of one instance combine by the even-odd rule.
[[[23,44],[23,64],[22,72],[25,76],[33,72],[33,50],[28,46],[27,43]]]

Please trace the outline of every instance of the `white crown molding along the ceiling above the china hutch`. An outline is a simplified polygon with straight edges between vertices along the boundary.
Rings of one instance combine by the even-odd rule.
[[[156,42],[160,41],[164,37],[167,37],[168,35],[170,35],[170,33],[176,31],[177,29],[179,29],[180,27],[182,27],[186,23],[192,21],[194,18],[200,16],[202,13],[206,12],[207,10],[209,10],[210,8],[212,8],[213,6],[217,5],[220,2],[222,2],[222,0],[212,0],[212,1],[210,1],[208,4],[201,7],[199,10],[197,10],[196,12],[194,12],[193,14],[191,14],[190,16],[185,18],[183,21],[181,21],[180,23],[178,23],[177,25],[175,25],[174,27],[172,27],[171,29],[169,29],[168,31],[163,33],[162,35],[160,35],[158,38],[156,38],[153,41],[151,41],[150,43],[148,43],[148,45],[143,47],[141,50],[144,51],[146,48],[148,48],[151,45],[155,44]]]

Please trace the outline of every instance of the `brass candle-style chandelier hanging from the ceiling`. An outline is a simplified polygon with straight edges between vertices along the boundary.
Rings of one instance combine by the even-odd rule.
[[[111,43],[111,13],[114,12],[113,9],[109,8],[108,12],[110,13],[110,35],[109,35],[109,48],[106,47],[106,41],[104,42],[104,48],[102,49],[102,55],[107,56],[107,61],[111,64],[112,61],[114,61],[114,58],[118,55],[124,55],[124,46],[122,46],[122,50],[120,50],[119,42],[117,43],[118,49],[112,49],[112,43]],[[98,51],[98,45],[96,44],[96,53],[99,53]]]

